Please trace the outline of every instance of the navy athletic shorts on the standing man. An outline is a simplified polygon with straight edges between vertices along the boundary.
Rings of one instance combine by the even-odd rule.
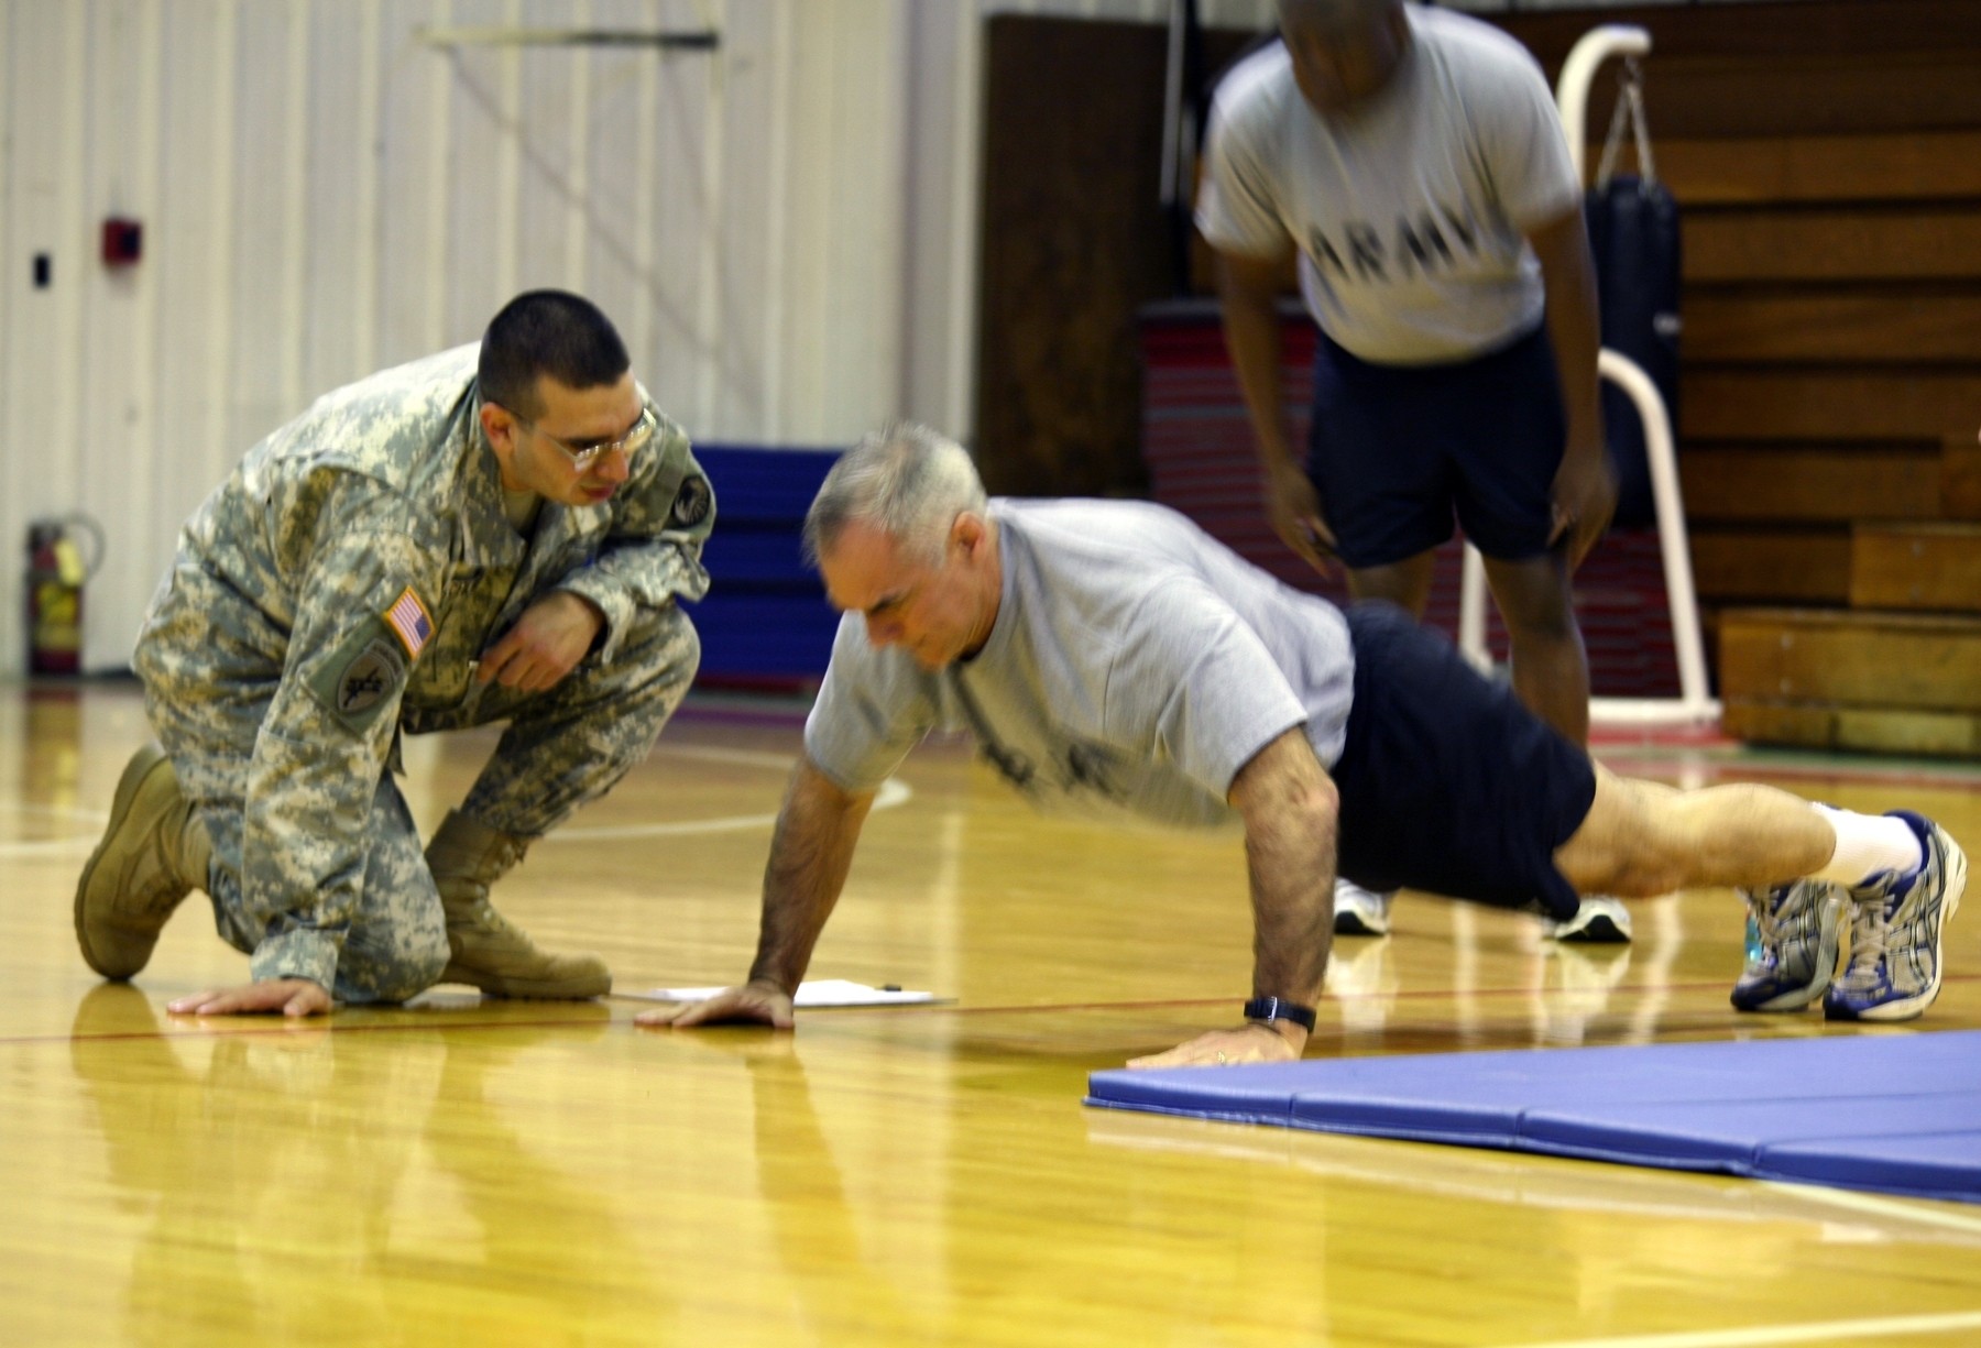
[[[1321,335],[1307,475],[1347,566],[1387,566],[1452,536],[1486,556],[1547,552],[1567,445],[1547,329],[1458,364],[1369,364]]]

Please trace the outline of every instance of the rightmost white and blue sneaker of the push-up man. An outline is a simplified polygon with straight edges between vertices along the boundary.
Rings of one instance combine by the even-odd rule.
[[[1939,996],[1939,936],[1961,907],[1967,855],[1931,819],[1890,814],[1912,827],[1926,861],[1850,891],[1850,962],[1823,998],[1828,1019],[1914,1019]]]

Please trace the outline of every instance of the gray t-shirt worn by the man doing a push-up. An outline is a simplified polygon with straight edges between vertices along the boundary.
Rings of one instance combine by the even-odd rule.
[[[1212,825],[1286,730],[1341,756],[1355,657],[1331,604],[1159,505],[994,499],[990,521],[1004,590],[973,659],[927,673],[840,620],[804,752],[842,788],[878,788],[929,730],[969,730],[1042,810]]]

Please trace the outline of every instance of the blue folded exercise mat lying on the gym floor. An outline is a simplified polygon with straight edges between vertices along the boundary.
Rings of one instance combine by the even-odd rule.
[[[1101,1071],[1088,1105],[1981,1204],[1981,1031]]]

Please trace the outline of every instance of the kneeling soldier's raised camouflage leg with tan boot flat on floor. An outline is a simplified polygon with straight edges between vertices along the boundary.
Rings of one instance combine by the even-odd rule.
[[[454,952],[444,982],[505,998],[612,990],[604,960],[541,950],[489,903],[489,887],[533,841],[648,756],[699,661],[693,626],[670,604],[636,618],[610,663],[586,661],[549,693],[487,685],[471,713],[408,717],[414,732],[509,722],[468,800],[448,812],[426,849]]]

